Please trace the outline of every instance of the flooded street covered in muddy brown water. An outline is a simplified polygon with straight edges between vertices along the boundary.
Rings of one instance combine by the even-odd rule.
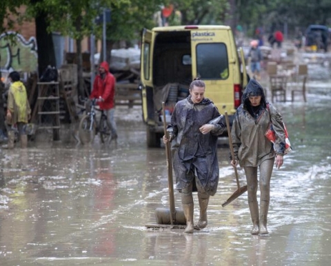
[[[272,175],[270,236],[250,234],[246,193],[221,206],[237,190],[227,139],[208,227],[147,229],[154,209],[169,207],[165,150],[146,147],[141,107],[119,107],[119,139],[109,147],[99,137],[77,145],[68,134],[0,150],[0,265],[330,265],[330,68],[310,71],[307,103],[299,95],[274,103],[294,150]],[[239,178],[245,185],[243,169]],[[175,201],[181,207],[177,192]],[[197,194],[194,210],[197,221]]]

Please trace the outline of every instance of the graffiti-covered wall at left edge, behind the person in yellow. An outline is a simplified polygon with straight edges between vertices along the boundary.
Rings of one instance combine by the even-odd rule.
[[[16,32],[0,35],[0,69],[34,72],[37,71],[37,57],[37,40],[34,37],[27,41]]]

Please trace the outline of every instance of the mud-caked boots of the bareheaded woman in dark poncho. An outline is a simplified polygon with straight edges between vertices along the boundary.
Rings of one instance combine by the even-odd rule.
[[[188,187],[185,187],[181,190],[181,203],[183,204],[183,211],[186,218],[186,228],[184,233],[192,234],[194,230],[194,202],[192,196],[192,187],[193,184],[190,184]],[[199,222],[197,223],[198,229],[203,229],[207,226],[207,208],[209,203],[209,195],[205,192],[199,192],[198,190],[198,199],[200,207],[200,216]]]

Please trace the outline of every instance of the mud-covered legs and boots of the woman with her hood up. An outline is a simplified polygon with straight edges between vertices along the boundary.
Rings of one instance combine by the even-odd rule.
[[[258,167],[244,167],[247,180],[248,205],[253,223],[251,234],[268,234],[267,219],[270,201],[270,179],[273,167],[274,158],[265,160],[259,165],[260,212],[257,203]]]

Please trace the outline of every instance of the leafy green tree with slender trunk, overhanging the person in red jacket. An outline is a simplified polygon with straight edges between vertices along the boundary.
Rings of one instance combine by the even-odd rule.
[[[111,10],[112,21],[108,23],[107,39],[112,43],[137,37],[142,25],[150,24],[152,14],[161,1],[154,0],[35,0],[32,12],[45,12],[49,23],[48,31],[61,32],[72,37],[77,44],[77,70],[79,94],[84,94],[81,41],[90,34],[101,39],[101,25],[95,19],[104,8]],[[110,49],[107,49],[110,53]],[[109,57],[108,57],[109,59]]]

